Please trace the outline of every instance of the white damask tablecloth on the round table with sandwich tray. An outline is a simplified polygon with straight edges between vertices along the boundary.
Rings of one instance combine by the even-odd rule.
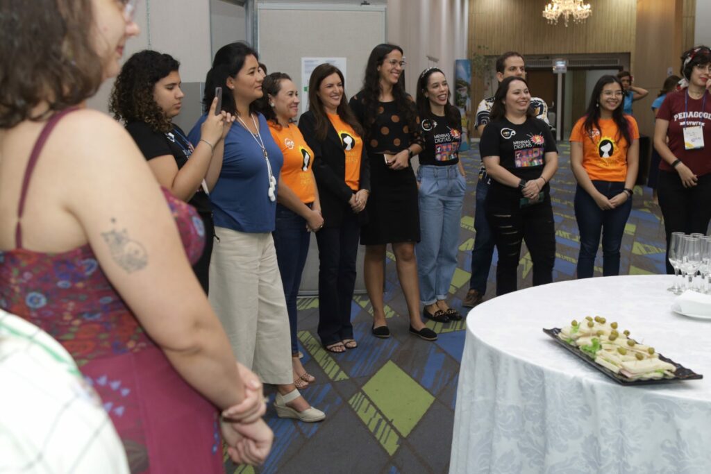
[[[670,311],[670,276],[563,281],[467,317],[451,473],[711,473],[711,321]],[[705,375],[624,387],[542,328],[603,316]]]

